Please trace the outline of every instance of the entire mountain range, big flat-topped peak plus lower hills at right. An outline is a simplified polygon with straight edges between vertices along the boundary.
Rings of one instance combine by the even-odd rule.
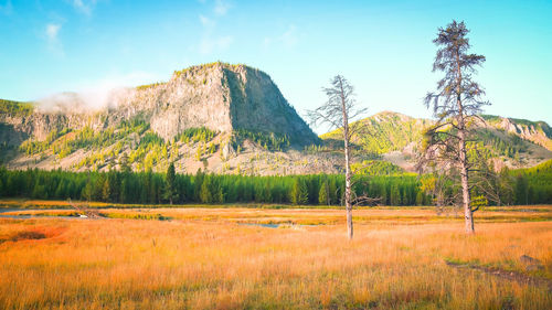
[[[317,137],[270,77],[245,65],[177,71],[164,83],[110,92],[100,108],[63,93],[40,103],[0,100],[0,163],[9,169],[123,169],[304,174],[343,171],[340,130]],[[497,167],[552,158],[542,121],[482,116],[478,138]],[[383,111],[360,120],[353,142],[370,173],[413,171],[432,120]]]

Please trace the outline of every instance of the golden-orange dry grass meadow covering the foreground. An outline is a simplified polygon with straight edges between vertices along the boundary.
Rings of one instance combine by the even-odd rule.
[[[552,309],[552,206],[478,212],[474,236],[357,210],[352,242],[341,210],[105,207],[0,218],[0,309]]]

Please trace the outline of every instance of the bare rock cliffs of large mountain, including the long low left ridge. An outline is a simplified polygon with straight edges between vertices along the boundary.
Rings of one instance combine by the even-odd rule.
[[[23,135],[17,140],[26,136],[44,140],[54,129],[89,126],[102,130],[137,118],[149,122],[166,140],[187,128],[199,127],[219,132],[274,132],[299,146],[318,139],[270,77],[245,65],[213,63],[189,67],[174,72],[167,83],[119,92],[112,96],[108,106],[109,109],[94,113],[35,109],[25,117],[2,115],[0,121]]]

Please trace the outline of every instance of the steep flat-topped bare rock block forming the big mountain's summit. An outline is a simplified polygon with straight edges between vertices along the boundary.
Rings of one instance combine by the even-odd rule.
[[[317,139],[270,77],[244,65],[215,63],[176,72],[167,84],[138,90],[128,101],[126,117],[151,111],[151,128],[164,139],[203,126],[221,132],[275,132],[300,145]]]

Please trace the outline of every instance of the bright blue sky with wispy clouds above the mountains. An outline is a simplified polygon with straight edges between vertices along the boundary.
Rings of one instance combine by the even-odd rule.
[[[0,0],[0,98],[137,86],[223,61],[269,74],[301,116],[341,74],[369,115],[431,117],[432,40],[458,20],[487,57],[485,113],[552,125],[551,17],[550,0]]]

